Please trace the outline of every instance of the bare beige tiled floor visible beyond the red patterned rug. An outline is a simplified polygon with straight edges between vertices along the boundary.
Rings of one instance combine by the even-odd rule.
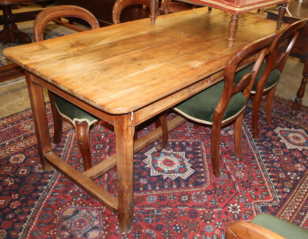
[[[2,28],[2,26],[0,26],[0,28]],[[289,57],[275,94],[286,99],[294,100],[301,83],[303,67],[303,61],[294,57]],[[308,106],[307,91],[306,89],[306,94],[303,98],[303,105],[306,106]],[[44,93],[45,96],[47,96],[46,91]],[[48,101],[48,97],[45,98],[45,100]],[[30,108],[30,100],[25,81],[0,86],[0,118],[28,108]]]

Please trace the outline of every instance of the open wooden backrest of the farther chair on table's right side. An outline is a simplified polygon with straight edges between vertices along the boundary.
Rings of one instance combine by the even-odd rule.
[[[290,55],[290,52],[292,51],[292,48],[298,39],[299,34],[301,34],[302,30],[307,24],[307,20],[308,19],[303,19],[301,21],[294,22],[282,30],[280,34],[278,34],[269,49],[269,56],[263,74],[266,79],[270,72],[276,68],[282,72],[283,67],[286,64],[286,60]],[[262,80],[260,79],[260,81]]]

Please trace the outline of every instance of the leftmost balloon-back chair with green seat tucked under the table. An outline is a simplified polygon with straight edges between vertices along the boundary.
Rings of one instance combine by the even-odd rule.
[[[77,17],[87,21],[92,29],[99,28],[96,18],[88,10],[72,5],[62,5],[41,11],[34,20],[34,42],[43,41],[43,30],[48,22],[61,17]],[[97,119],[67,100],[48,91],[54,120],[54,143],[58,144],[62,134],[62,117],[71,121],[76,129],[76,138],[84,164],[84,170],[91,168],[89,128]],[[62,117],[61,117],[62,116]]]

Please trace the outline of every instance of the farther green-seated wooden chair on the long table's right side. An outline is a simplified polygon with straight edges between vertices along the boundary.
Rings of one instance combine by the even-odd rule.
[[[282,30],[269,49],[267,62],[262,64],[259,74],[257,75],[256,81],[251,90],[251,93],[255,94],[252,112],[252,131],[253,138],[255,139],[258,138],[258,118],[262,97],[265,95],[263,111],[266,112],[267,123],[271,124],[272,102],[280,78],[280,73],[286,64],[286,60],[294,43],[302,29],[306,26],[306,23],[307,19],[303,19]],[[238,72],[235,81],[240,80],[243,75],[251,70],[251,68],[252,65]]]

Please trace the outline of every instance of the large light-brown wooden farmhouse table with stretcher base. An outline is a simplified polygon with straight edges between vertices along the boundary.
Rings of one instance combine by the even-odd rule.
[[[5,49],[4,55],[25,69],[43,169],[57,169],[95,197],[118,215],[119,228],[128,233],[134,214],[133,155],[162,136],[159,127],[134,142],[135,126],[222,80],[233,53],[281,31],[274,20],[243,14],[238,41],[228,48],[228,18],[229,13],[198,8],[158,16],[155,24],[141,19]],[[85,172],[56,156],[42,86],[114,125],[116,154]],[[185,121],[178,116],[168,129]],[[93,181],[115,166],[117,197]]]

